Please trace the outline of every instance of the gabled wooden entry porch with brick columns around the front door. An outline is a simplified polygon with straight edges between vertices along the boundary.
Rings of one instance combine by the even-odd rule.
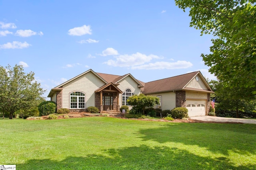
[[[122,91],[113,83],[106,84],[95,91],[95,106],[100,112],[120,111],[119,94]]]

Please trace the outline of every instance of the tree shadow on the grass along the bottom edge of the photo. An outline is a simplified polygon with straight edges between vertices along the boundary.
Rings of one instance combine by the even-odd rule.
[[[74,169],[255,169],[255,164],[234,166],[227,158],[212,159],[191,154],[187,150],[169,147],[126,147],[104,150],[104,153],[85,157],[68,156],[64,160],[33,159],[24,164],[16,164],[20,170],[74,170]]]

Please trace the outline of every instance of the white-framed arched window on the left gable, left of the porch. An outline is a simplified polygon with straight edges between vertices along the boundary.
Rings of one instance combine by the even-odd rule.
[[[82,92],[70,93],[70,109],[84,109],[85,94]]]

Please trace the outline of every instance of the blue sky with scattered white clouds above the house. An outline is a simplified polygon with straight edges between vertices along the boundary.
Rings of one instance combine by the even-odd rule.
[[[150,82],[200,70],[211,35],[169,0],[0,0],[0,65],[22,64],[42,88],[92,69]]]

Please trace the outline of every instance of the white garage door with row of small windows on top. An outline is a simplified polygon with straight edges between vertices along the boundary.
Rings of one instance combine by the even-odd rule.
[[[206,111],[206,100],[186,100],[189,117],[203,116]]]

